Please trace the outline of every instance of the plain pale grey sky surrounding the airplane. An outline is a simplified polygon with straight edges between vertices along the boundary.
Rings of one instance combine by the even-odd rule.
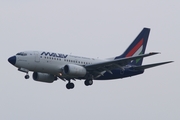
[[[1,0],[0,119],[179,120],[179,5],[179,0]],[[109,58],[120,55],[143,27],[151,28],[146,52],[161,52],[143,64],[174,63],[90,87],[76,81],[67,90],[61,80],[25,80],[7,61],[24,50]]]

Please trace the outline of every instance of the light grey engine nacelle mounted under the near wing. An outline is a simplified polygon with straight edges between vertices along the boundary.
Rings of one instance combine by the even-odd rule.
[[[64,66],[64,73],[72,77],[84,77],[86,69],[79,65],[68,64]]]

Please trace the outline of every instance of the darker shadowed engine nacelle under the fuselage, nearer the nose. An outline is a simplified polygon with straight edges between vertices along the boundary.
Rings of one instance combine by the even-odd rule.
[[[40,73],[40,72],[34,72],[32,77],[35,81],[47,82],[47,83],[52,83],[55,80],[57,80],[57,78],[54,77],[53,75],[47,73]]]

